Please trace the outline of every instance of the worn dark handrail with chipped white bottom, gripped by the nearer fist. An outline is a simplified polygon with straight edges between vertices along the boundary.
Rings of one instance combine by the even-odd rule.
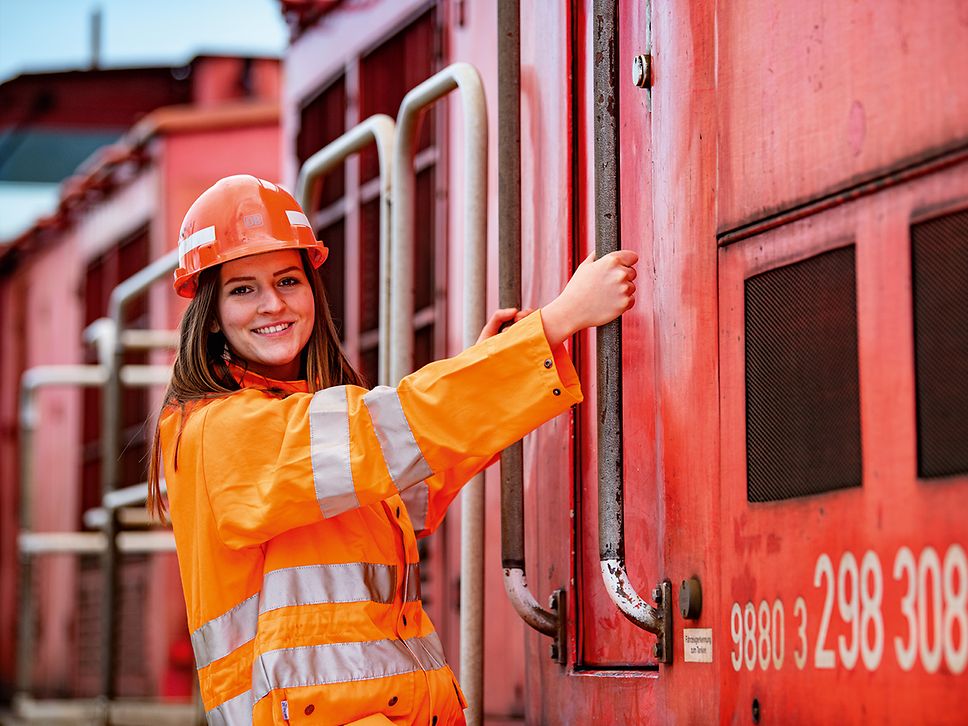
[[[620,248],[618,185],[618,98],[616,83],[615,0],[595,0],[595,252]],[[600,326],[597,339],[598,381],[598,537],[602,579],[609,597],[626,618],[659,636],[655,656],[671,663],[671,585],[653,591],[657,607],[636,592],[625,569],[623,493],[622,321]]]

